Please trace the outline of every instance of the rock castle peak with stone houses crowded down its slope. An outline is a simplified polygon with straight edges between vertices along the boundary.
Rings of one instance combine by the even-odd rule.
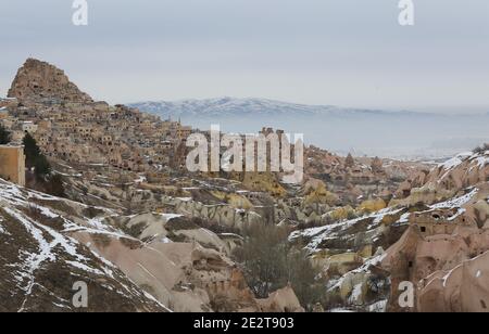
[[[192,131],[138,110],[95,102],[64,72],[33,59],[18,69],[9,98],[9,114],[0,121],[13,141],[29,132],[46,155],[74,164],[134,172],[183,165],[177,149]]]

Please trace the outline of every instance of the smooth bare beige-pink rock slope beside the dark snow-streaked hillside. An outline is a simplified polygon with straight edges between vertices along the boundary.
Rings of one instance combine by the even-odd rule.
[[[74,236],[174,311],[258,310],[242,274],[230,259],[214,249],[159,240],[142,244],[87,231]],[[98,242],[101,236],[104,241]]]

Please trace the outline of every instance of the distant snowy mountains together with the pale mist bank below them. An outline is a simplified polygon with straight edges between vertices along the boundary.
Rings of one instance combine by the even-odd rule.
[[[308,143],[339,154],[440,158],[489,142],[489,115],[387,112],[305,105],[266,99],[140,102],[129,106],[206,130],[254,133],[262,127],[303,133]]]

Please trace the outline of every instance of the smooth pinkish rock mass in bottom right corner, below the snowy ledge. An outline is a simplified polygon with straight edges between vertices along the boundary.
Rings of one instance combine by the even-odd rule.
[[[387,251],[383,268],[391,274],[391,311],[411,311],[398,304],[401,282],[413,282],[417,287],[417,307],[412,310],[482,310],[481,304],[474,304],[473,300],[476,299],[475,293],[479,294],[479,299],[489,298],[487,284],[484,281],[475,283],[478,281],[477,273],[478,277],[488,274],[484,259],[487,259],[485,254],[489,251],[489,230],[453,222],[450,231],[443,229],[439,233],[423,235],[427,231],[412,224],[401,240]],[[473,273],[476,267],[478,271]],[[468,271],[471,274],[467,274]],[[468,299],[472,301],[466,299],[463,303],[461,291],[471,292],[474,298]]]

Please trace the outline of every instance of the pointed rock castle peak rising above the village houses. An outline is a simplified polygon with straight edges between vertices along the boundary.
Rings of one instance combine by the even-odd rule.
[[[70,81],[63,70],[34,59],[28,59],[18,69],[9,98],[53,99],[65,102],[91,102],[91,98]]]

